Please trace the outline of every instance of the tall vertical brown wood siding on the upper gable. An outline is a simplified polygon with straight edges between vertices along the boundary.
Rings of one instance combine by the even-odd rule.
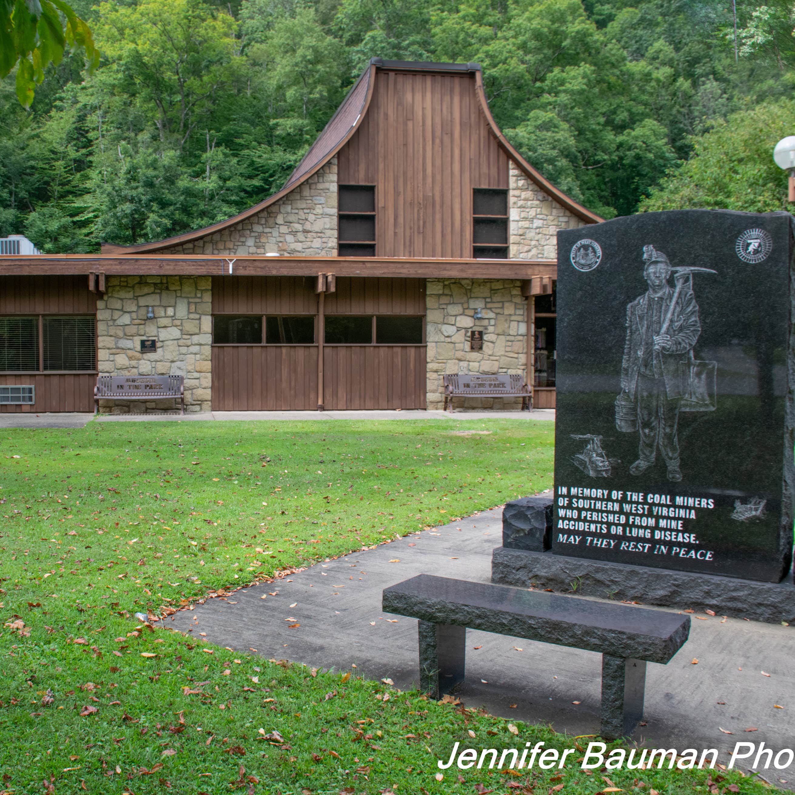
[[[472,188],[508,188],[508,157],[471,75],[377,72],[339,150],[339,184],[374,184],[379,257],[472,255]]]

